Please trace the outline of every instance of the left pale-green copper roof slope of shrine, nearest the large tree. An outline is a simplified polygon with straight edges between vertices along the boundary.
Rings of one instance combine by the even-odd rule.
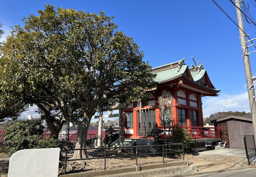
[[[171,64],[168,64],[168,65],[171,65]],[[173,77],[176,77],[180,74],[184,74],[187,67],[188,67],[187,65],[182,65],[179,71],[178,71],[178,67],[174,67],[174,68],[169,68],[159,72],[154,72],[154,74],[157,74],[155,77],[155,82],[165,81]]]

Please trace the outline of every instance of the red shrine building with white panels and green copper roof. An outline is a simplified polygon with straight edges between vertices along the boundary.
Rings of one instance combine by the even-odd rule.
[[[150,138],[154,124],[157,123],[158,127],[161,127],[160,110],[157,103],[158,97],[161,95],[173,95],[173,122],[187,127],[192,138],[219,137],[218,129],[211,132],[209,129],[209,133],[202,135],[200,128],[202,129],[204,126],[201,98],[203,96],[218,96],[217,93],[220,90],[215,89],[202,65],[189,68],[184,60],[152,68],[155,87],[146,92],[147,99],[141,103],[130,103],[123,110],[126,113],[124,138]]]

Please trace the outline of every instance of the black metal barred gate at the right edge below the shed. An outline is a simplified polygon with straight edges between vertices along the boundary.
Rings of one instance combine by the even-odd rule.
[[[250,165],[250,163],[254,162],[256,158],[254,135],[243,135],[243,142],[245,143],[245,153],[248,165]]]

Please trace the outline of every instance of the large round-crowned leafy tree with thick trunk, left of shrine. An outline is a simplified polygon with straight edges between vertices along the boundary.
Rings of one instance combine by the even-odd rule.
[[[38,12],[23,18],[24,27],[16,26],[2,48],[4,89],[61,110],[78,131],[76,148],[86,147],[95,112],[139,101],[153,83],[151,67],[132,37],[103,12],[49,5]],[[82,121],[74,116],[77,109]]]

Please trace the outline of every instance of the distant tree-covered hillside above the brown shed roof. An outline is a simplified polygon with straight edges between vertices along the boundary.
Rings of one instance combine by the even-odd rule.
[[[220,119],[223,117],[227,117],[227,116],[239,116],[239,117],[246,117],[246,118],[251,118],[252,115],[250,114],[250,112],[239,112],[239,111],[228,111],[228,112],[216,112],[214,114],[211,114],[209,117],[204,118],[204,125],[209,124],[209,125],[213,125],[211,124],[211,120],[216,120],[216,119]]]

